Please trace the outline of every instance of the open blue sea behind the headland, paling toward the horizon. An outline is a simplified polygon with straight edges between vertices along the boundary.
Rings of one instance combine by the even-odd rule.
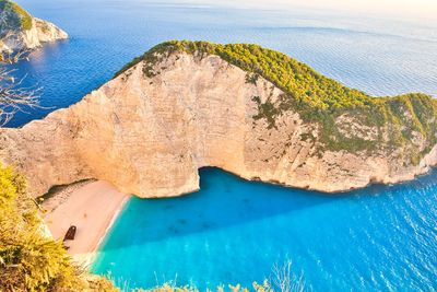
[[[14,66],[44,87],[43,108],[19,114],[17,127],[80,101],[152,46],[168,39],[256,43],[308,63],[369,94],[437,96],[437,21],[385,20],[302,9],[232,9],[220,1],[17,0],[55,22],[70,39]]]

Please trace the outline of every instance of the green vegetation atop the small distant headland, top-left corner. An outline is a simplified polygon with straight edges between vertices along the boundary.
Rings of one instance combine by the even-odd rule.
[[[0,0],[0,13],[7,16],[1,24],[1,26],[5,27],[1,27],[1,32],[16,30],[17,27],[24,31],[32,28],[31,14],[12,1]]]

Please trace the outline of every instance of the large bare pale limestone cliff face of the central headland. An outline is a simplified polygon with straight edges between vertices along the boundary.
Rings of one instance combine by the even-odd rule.
[[[203,166],[334,192],[412,179],[437,163],[436,132],[415,130],[413,109],[401,110],[404,125],[365,122],[356,106],[329,112],[328,124],[302,104],[285,106],[287,98],[290,92],[224,56],[169,46],[137,59],[69,108],[1,129],[0,157],[27,175],[35,195],[97,178],[147,198],[197,190]],[[415,98],[434,106],[429,96],[409,98],[416,108]],[[434,114],[423,115],[434,122]],[[393,147],[393,125],[413,129],[408,137],[414,139]],[[342,148],[344,141],[364,147]]]

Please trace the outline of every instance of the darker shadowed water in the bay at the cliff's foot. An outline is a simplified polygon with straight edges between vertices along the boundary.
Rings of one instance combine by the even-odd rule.
[[[202,168],[200,177],[199,192],[168,199],[131,198],[104,242],[103,249],[250,224],[345,198],[343,195],[327,196],[247,182],[212,167]]]

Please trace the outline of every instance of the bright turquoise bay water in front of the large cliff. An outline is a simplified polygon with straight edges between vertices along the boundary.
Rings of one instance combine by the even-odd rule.
[[[251,287],[291,259],[316,291],[432,291],[437,285],[437,173],[344,196],[201,171],[201,190],[132,198],[93,271],[130,287],[165,281]]]

